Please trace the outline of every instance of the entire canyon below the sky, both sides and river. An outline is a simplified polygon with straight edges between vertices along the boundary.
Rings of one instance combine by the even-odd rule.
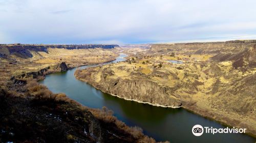
[[[189,122],[189,127],[194,124],[188,121],[189,118],[209,122],[195,115],[198,114],[225,126],[247,128],[246,133],[255,136],[255,49],[255,40],[133,44],[124,47],[1,44],[0,119],[3,124],[0,126],[0,138],[4,141],[49,141],[53,133],[57,134],[56,142],[156,142],[148,136],[154,136],[158,141],[186,141],[177,138],[175,133],[168,134],[175,125],[164,118],[169,117],[169,112],[174,112],[174,119],[170,121],[184,120]],[[118,60],[120,53],[128,56]],[[74,76],[78,80],[73,79]],[[112,99],[104,93],[104,103],[102,97],[90,97],[102,96],[101,93],[79,80],[131,102]],[[113,108],[117,103],[127,107]],[[115,112],[104,106],[112,107]],[[165,110],[163,107],[175,109]],[[129,110],[126,108],[139,113],[133,116],[129,112],[123,116]],[[147,112],[153,115],[149,116]],[[159,119],[153,117],[155,114]],[[186,116],[182,116],[184,114]],[[142,121],[138,120],[140,116]],[[155,123],[151,123],[151,118],[161,122],[161,126],[159,123],[156,125],[168,127],[165,129],[167,132],[153,130]],[[212,121],[210,123],[216,125]],[[29,131],[31,136],[22,130]],[[181,132],[191,142],[198,142],[190,136],[190,129],[189,132]],[[241,140],[242,136],[234,135],[233,138]],[[253,140],[249,136],[243,136],[243,139]]]

